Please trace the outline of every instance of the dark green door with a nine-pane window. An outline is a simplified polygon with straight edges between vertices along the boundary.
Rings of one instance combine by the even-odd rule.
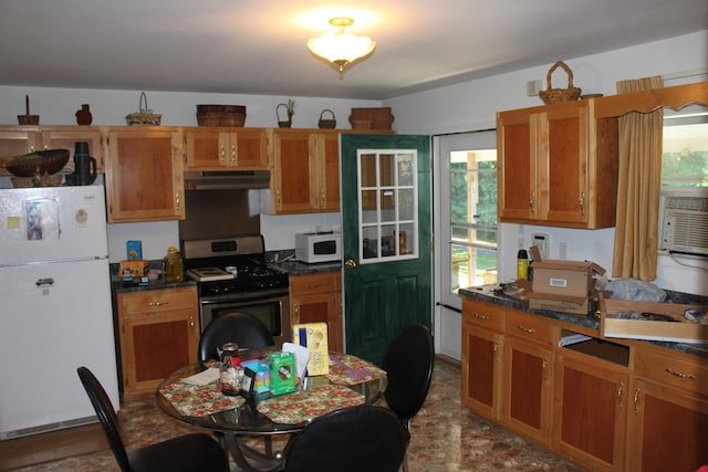
[[[381,364],[409,324],[431,327],[430,140],[342,135],[346,352]]]

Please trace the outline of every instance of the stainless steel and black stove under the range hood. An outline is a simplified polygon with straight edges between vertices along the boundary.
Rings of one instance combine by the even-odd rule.
[[[232,312],[258,317],[280,346],[292,338],[288,274],[266,264],[260,234],[184,240],[185,273],[198,282],[201,329]]]

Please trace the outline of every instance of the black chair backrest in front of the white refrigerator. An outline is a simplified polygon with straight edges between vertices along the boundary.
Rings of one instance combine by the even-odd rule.
[[[79,378],[88,395],[93,409],[96,411],[96,416],[98,417],[98,421],[101,421],[103,431],[106,433],[106,439],[113,450],[115,460],[118,462],[123,472],[129,472],[131,465],[128,463],[128,455],[127,452],[125,452],[123,439],[121,439],[118,421],[113,403],[111,403],[111,399],[106,395],[106,391],[96,376],[94,376],[91,370],[86,367],[79,367],[76,373],[79,374]]]

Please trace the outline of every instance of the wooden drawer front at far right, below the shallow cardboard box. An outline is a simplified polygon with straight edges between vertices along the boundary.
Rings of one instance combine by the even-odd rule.
[[[637,349],[635,375],[660,385],[708,395],[708,366]]]

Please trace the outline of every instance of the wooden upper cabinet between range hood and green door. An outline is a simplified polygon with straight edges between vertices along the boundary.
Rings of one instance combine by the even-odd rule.
[[[273,213],[312,213],[340,209],[337,133],[273,132]]]

